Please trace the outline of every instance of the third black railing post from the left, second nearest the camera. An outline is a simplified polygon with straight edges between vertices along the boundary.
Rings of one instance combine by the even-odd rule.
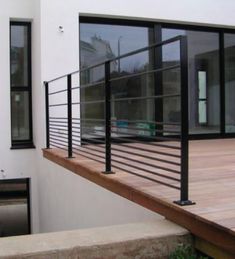
[[[111,89],[110,61],[105,62],[105,174],[112,172],[111,165]]]

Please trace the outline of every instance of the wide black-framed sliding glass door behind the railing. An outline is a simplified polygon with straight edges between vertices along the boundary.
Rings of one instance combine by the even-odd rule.
[[[154,42],[185,35],[188,40],[190,135],[200,138],[208,134],[222,136],[226,133],[235,133],[235,33],[233,31],[154,23],[132,26],[129,21],[104,20],[90,21],[89,18],[83,18],[80,23],[81,68],[115,58]],[[166,45],[160,51],[143,52],[131,58],[112,62],[111,77],[173,66],[179,62],[179,45],[177,43]],[[104,67],[81,73],[82,84],[102,82],[103,79]],[[156,73],[123,80],[121,83],[113,82],[112,99],[179,93],[180,81],[179,69],[175,69],[164,71],[161,76]],[[100,87],[87,87],[81,91],[83,101],[102,98],[104,98],[102,84]],[[86,109],[84,107],[81,107],[82,118],[103,119],[102,103],[87,105]],[[154,100],[126,101],[122,105],[112,102],[112,119],[119,120],[120,127],[125,127],[124,121],[178,122],[180,99],[165,98],[162,103]]]

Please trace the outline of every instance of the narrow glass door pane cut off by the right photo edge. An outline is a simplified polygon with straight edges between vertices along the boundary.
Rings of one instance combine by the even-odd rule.
[[[226,132],[235,132],[235,34],[224,34]]]

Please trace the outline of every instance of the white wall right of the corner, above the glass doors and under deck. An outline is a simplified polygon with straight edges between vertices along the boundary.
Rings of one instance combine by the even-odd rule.
[[[100,0],[98,4],[91,0],[41,0],[42,78],[49,80],[78,69],[79,15],[232,27],[235,25],[233,9],[232,0],[226,1],[226,4],[220,0]],[[63,33],[59,32],[59,26],[63,26]],[[38,132],[44,132],[43,114],[38,123]],[[43,147],[44,139],[40,143]],[[153,217],[130,202],[78,176],[67,174],[64,169],[41,159],[38,152],[42,231],[109,225]],[[46,178],[45,185],[43,181]],[[59,190],[52,188],[55,183],[60,194]],[[63,206],[66,209],[63,210]]]

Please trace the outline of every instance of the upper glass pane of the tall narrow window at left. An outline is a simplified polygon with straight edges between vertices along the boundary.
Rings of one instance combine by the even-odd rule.
[[[27,28],[11,25],[11,86],[28,86]]]

